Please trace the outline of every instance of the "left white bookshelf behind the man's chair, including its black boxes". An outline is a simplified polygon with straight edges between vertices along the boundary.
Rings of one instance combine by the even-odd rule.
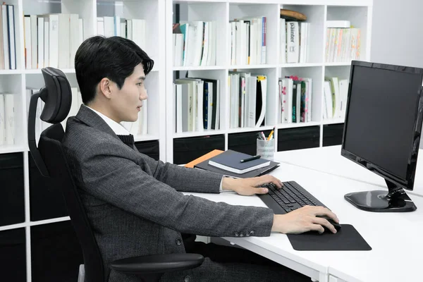
[[[15,110],[14,142],[0,145],[0,180],[8,183],[1,185],[0,192],[0,260],[8,262],[1,269],[2,277],[7,281],[77,281],[82,253],[61,192],[38,173],[27,145],[27,89],[39,90],[44,86],[41,68],[51,64],[39,67],[32,64],[31,68],[27,68],[25,15],[77,14],[82,19],[82,39],[99,34],[99,17],[145,20],[143,49],[154,59],[154,68],[145,80],[149,94],[147,135],[136,135],[135,142],[139,147],[157,146],[154,147],[159,152],[157,159],[164,160],[165,1],[6,0],[5,3],[13,5],[14,9],[16,68],[0,69],[0,93],[13,94]],[[38,35],[37,30],[35,32]],[[66,35],[66,32],[63,33]],[[68,33],[71,34],[71,31]],[[57,51],[59,56],[63,55],[61,48]],[[66,74],[71,87],[78,89],[75,69],[71,64],[73,57],[68,54],[69,66],[56,68]],[[53,56],[51,52],[49,55]]]

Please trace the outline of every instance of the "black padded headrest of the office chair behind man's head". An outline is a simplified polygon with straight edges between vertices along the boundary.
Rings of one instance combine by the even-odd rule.
[[[47,123],[61,123],[72,105],[72,90],[66,75],[57,68],[42,68],[45,87],[40,90],[44,109],[40,118]]]

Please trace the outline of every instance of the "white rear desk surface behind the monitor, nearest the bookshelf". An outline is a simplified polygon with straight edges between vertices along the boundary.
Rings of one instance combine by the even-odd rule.
[[[419,159],[417,160],[415,187],[412,191],[405,190],[408,195],[423,196],[422,158],[423,149],[420,149]],[[370,183],[388,190],[384,178],[341,156],[341,145],[277,152],[274,159],[275,161],[281,161],[286,164],[293,164],[315,171]]]

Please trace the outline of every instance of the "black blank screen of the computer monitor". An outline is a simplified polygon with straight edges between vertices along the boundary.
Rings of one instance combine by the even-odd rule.
[[[353,66],[343,148],[406,178],[422,76]]]

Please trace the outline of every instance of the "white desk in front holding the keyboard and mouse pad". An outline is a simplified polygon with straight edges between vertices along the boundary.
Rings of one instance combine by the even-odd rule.
[[[283,181],[296,180],[335,212],[341,223],[355,226],[372,250],[296,251],[288,237],[281,233],[272,233],[270,237],[224,239],[321,282],[329,282],[329,278],[330,281],[422,281],[421,263],[412,258],[423,254],[423,208],[396,214],[364,212],[346,202],[343,195],[345,192],[374,190],[377,188],[374,185],[290,164],[281,164],[272,174]],[[257,196],[245,197],[231,192],[195,195],[215,202],[264,206]],[[423,197],[410,197],[417,207],[423,207]]]

